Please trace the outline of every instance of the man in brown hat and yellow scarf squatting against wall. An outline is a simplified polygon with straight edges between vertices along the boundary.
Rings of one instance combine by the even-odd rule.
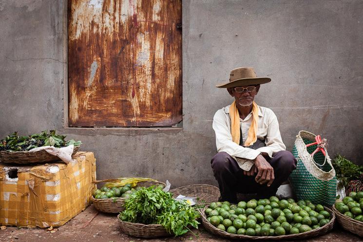
[[[257,193],[259,199],[276,194],[278,187],[296,168],[297,161],[286,151],[274,112],[258,106],[254,97],[269,77],[257,77],[253,68],[230,72],[227,88],[231,105],[213,118],[218,153],[211,160],[221,201],[237,203],[236,192]]]

